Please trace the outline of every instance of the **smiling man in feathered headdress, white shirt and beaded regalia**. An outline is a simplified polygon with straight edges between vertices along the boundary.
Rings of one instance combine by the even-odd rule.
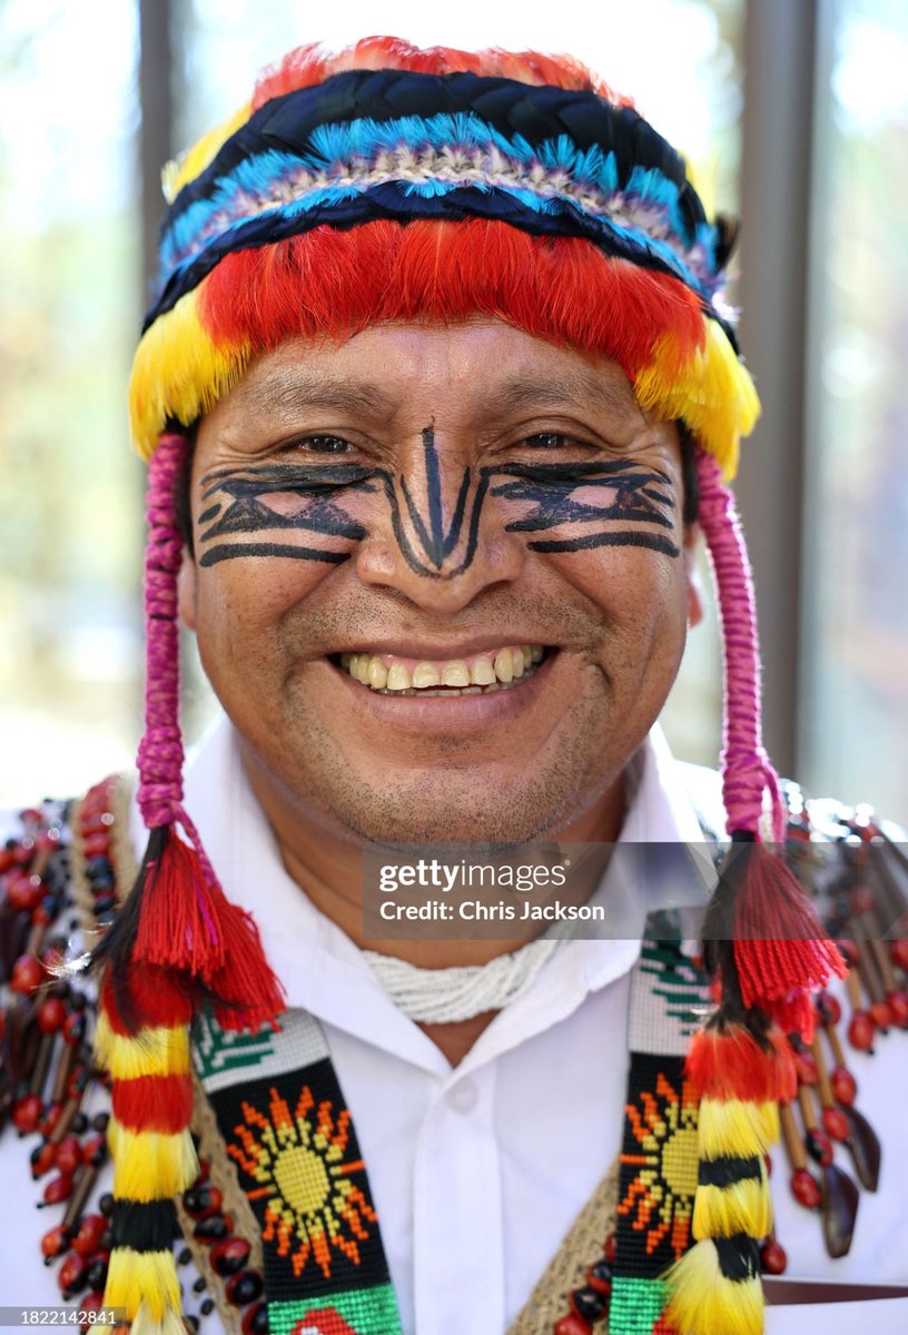
[[[64,1294],[139,1335],[215,1304],[228,1328],[295,1335],[756,1332],[761,1258],[780,1268],[778,1101],[848,1278],[904,1283],[904,1247],[871,1266],[873,1232],[852,1240],[856,1188],[815,1124],[813,1084],[852,1152],[864,1135],[804,1049],[809,991],[841,961],[764,841],[786,812],[721,481],[757,411],[720,295],[732,228],[582,67],[389,39],[292,52],[167,188],[131,391],[151,469],[147,849],[134,877],[108,782],[65,818],[28,814],[8,854],[32,936],[5,1069],[16,1125],[41,1133],[35,1175],[56,1169],[47,1203],[65,1203],[41,1240]],[[726,633],[724,810],[708,780],[692,801],[653,733],[700,614],[698,530]],[[228,718],[186,796],[178,610]],[[527,945],[539,925],[507,917],[494,939],[366,949],[373,845],[486,860],[710,830],[737,857],[709,979],[682,914],[650,918],[640,964],[637,941]],[[91,1007],[77,977],[35,992],[68,840],[81,925],[105,928],[114,1173],[95,1208]],[[859,1011],[872,979],[859,960]],[[904,1143],[897,1109],[873,1117]],[[880,1328],[904,1319],[880,1306]]]

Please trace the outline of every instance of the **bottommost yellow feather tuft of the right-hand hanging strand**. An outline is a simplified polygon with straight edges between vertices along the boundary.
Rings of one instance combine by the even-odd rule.
[[[696,1243],[668,1272],[666,1284],[668,1318],[678,1335],[761,1335],[760,1279],[726,1279],[714,1243]]]

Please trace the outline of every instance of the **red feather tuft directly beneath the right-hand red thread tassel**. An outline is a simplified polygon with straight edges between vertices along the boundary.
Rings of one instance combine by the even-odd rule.
[[[700,1099],[744,1099],[749,1103],[790,1101],[797,1092],[794,1061],[778,1029],[760,1047],[740,1025],[694,1033],[685,1075]]]

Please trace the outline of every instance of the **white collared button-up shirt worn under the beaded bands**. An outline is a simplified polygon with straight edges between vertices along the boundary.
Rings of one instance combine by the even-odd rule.
[[[700,842],[682,766],[658,729],[640,760],[621,841]],[[227,724],[199,748],[186,786],[222,885],[255,916],[288,1005],[323,1024],[367,1164],[405,1335],[503,1335],[621,1144],[628,985],[638,943],[566,944],[451,1069],[284,870]],[[855,1055],[851,1065],[887,1156],[908,1161],[904,1103],[883,1088],[893,1075],[904,1085],[908,1061]],[[860,1218],[845,1262],[825,1258],[819,1220],[776,1183],[777,1232],[797,1278],[908,1280],[892,1160],[877,1197],[861,1193],[861,1216],[875,1218]],[[776,1177],[784,1177],[781,1153],[777,1161]],[[0,1181],[5,1218],[16,1220],[0,1252],[3,1300],[56,1302],[39,1252],[52,1220],[33,1211],[39,1192],[28,1153],[9,1135],[0,1141]],[[190,1296],[187,1311],[196,1306]],[[856,1310],[868,1319],[871,1306],[875,1335],[908,1330],[908,1300],[897,1300],[774,1308],[768,1331],[852,1331],[861,1319]],[[203,1332],[218,1328],[216,1314],[206,1318]]]

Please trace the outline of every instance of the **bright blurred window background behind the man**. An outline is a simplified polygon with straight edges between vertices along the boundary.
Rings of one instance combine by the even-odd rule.
[[[742,214],[766,742],[809,790],[908,821],[904,0],[0,0],[0,806],[131,766],[142,732],[124,387],[160,166],[284,49],[375,31],[569,51]],[[186,657],[192,740],[212,702]],[[676,753],[714,764],[718,713],[710,618],[666,709]]]

